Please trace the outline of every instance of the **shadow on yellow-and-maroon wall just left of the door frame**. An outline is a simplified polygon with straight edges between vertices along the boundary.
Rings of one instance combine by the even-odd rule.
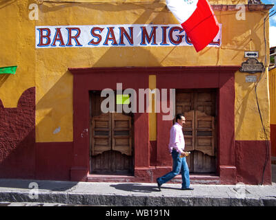
[[[65,72],[37,102],[36,178],[70,180],[72,137],[72,74]],[[45,113],[45,114],[44,114]]]

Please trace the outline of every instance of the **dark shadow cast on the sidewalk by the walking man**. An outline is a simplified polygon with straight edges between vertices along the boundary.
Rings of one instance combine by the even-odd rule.
[[[145,186],[144,184],[114,184],[110,186],[128,192],[160,192],[157,186]],[[161,186],[162,189],[179,190],[179,188]]]

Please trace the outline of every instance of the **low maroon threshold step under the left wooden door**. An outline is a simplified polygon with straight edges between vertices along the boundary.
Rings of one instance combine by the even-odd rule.
[[[90,174],[87,181],[95,182],[134,182],[133,175],[103,175],[103,174]]]

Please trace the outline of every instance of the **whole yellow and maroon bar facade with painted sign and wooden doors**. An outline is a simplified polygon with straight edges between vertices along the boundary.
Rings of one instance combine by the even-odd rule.
[[[197,53],[165,1],[0,3],[0,67],[17,66],[0,74],[0,177],[155,182],[172,166],[171,107],[192,184],[271,184],[268,68],[239,69],[245,52],[266,64],[272,5],[210,4],[220,31]]]

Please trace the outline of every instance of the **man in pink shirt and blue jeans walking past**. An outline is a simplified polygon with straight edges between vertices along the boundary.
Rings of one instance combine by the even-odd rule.
[[[169,151],[172,154],[172,171],[163,177],[157,178],[157,186],[161,190],[162,184],[170,181],[170,179],[178,175],[180,170],[182,170],[181,190],[193,190],[193,188],[190,188],[190,175],[185,157],[186,153],[184,152],[185,142],[182,132],[182,126],[184,126],[186,119],[183,114],[177,114],[175,121],[175,124],[170,129],[170,143],[168,144]],[[180,157],[180,155],[184,157]]]

